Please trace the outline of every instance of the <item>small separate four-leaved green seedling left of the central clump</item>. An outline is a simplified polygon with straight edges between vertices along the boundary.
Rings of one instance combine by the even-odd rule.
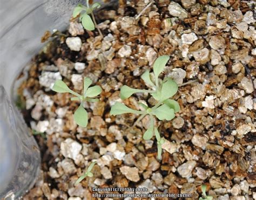
[[[88,115],[87,111],[83,107],[83,103],[87,102],[98,102],[98,98],[93,98],[98,96],[102,92],[102,88],[98,85],[89,87],[92,84],[92,80],[90,78],[84,78],[84,89],[83,94],[79,95],[77,92],[72,91],[69,87],[61,80],[57,80],[53,85],[52,90],[60,93],[69,92],[76,97],[72,97],[71,101],[80,101],[80,105],[78,109],[74,113],[75,122],[82,127],[86,127],[88,123]]]

